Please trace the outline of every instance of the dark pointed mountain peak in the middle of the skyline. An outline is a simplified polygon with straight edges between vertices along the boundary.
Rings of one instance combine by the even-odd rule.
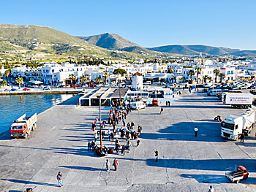
[[[78,37],[79,39],[83,39],[86,42],[91,43],[92,45],[97,45],[99,47],[108,49],[108,50],[121,50],[127,51],[130,53],[139,53],[139,54],[146,54],[146,55],[155,55],[154,51],[147,50],[144,47],[141,47],[134,42],[130,42],[124,37],[121,37],[117,34],[99,34],[93,35],[89,37]]]

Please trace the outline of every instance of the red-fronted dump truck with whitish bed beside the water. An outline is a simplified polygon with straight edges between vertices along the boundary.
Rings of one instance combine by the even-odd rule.
[[[17,120],[14,120],[10,127],[11,138],[24,137],[27,138],[31,131],[37,128],[37,113],[31,117],[26,114],[22,115]]]

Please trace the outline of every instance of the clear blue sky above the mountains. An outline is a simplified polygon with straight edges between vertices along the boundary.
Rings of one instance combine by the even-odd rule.
[[[72,35],[118,34],[144,47],[213,45],[256,50],[255,0],[9,0],[0,23]]]

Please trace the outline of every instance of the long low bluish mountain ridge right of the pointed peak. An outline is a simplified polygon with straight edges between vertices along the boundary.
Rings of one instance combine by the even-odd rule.
[[[166,45],[161,47],[151,47],[147,49],[164,53],[176,53],[181,55],[198,55],[200,53],[206,55],[225,55],[240,51],[238,49],[230,49],[226,47],[212,47],[206,45]]]

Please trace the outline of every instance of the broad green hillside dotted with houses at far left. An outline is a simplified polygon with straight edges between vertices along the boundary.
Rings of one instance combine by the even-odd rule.
[[[11,53],[42,52],[51,54],[98,54],[108,50],[45,26],[0,24],[0,51]]]

